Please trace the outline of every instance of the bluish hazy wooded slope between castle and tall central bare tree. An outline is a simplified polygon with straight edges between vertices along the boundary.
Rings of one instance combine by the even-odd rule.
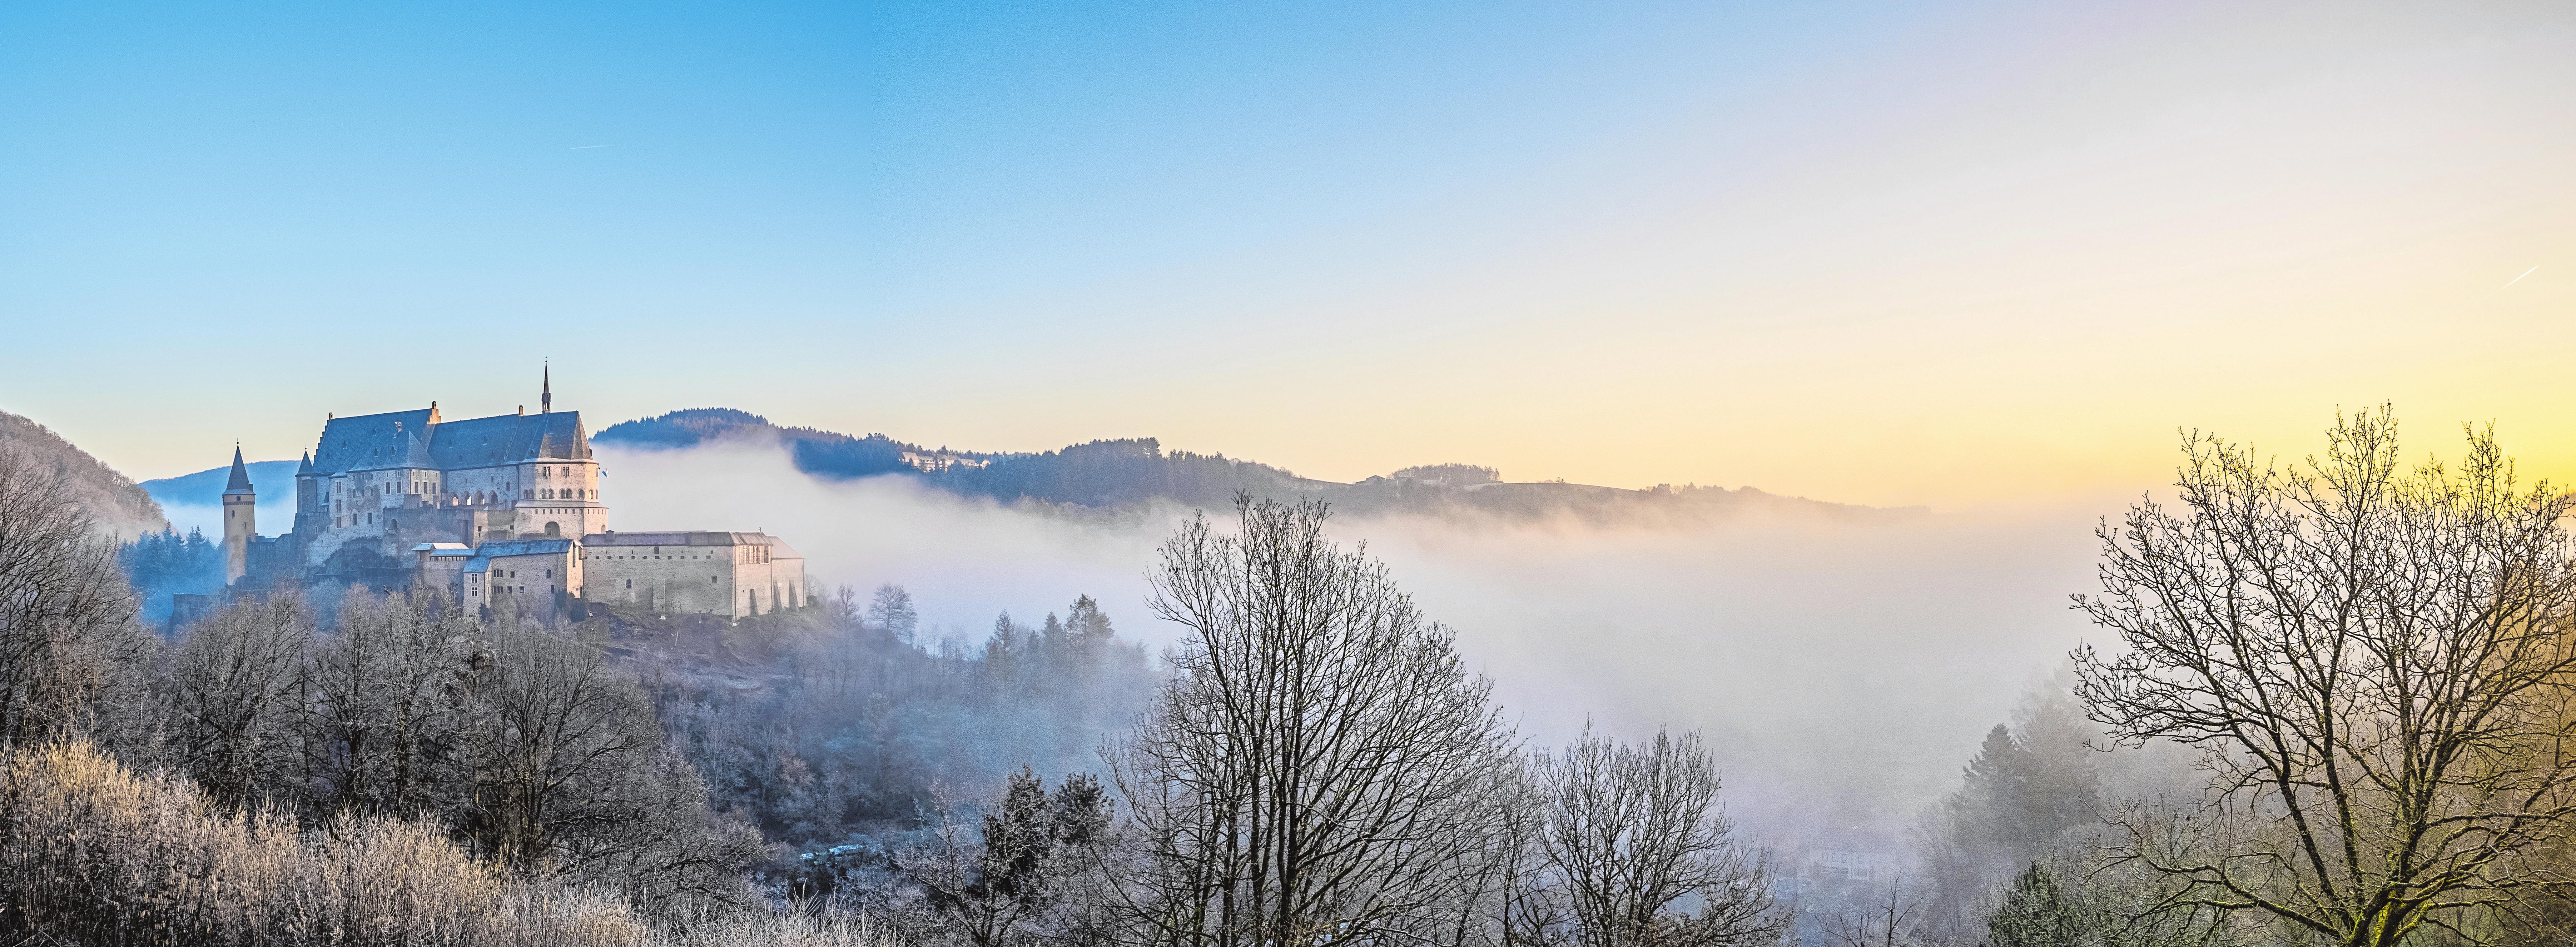
[[[981,646],[922,641],[902,587],[866,605],[840,589],[817,618],[755,690],[647,672],[711,803],[799,847],[902,839],[943,795],[999,787],[1020,767],[1095,769],[1103,733],[1126,728],[1157,682],[1144,646],[1090,597],[1036,628],[1005,612]]]

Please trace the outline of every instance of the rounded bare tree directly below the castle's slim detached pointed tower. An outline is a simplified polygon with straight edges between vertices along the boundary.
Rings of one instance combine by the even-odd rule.
[[[188,628],[170,667],[173,762],[222,805],[289,790],[304,726],[304,597],[242,600]]]

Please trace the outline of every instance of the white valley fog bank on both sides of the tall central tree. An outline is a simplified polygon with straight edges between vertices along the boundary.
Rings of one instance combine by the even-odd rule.
[[[817,587],[912,589],[925,633],[979,641],[1092,594],[1164,646],[1144,610],[1154,546],[1190,515],[1002,507],[904,476],[819,481],[778,448],[598,453],[621,530],[768,530]],[[2020,510],[1883,520],[1754,512],[1721,528],[1605,530],[1342,517],[1540,744],[1700,728],[1757,836],[1893,841],[1986,728],[2084,636],[2092,520]],[[265,515],[265,510],[263,510]],[[1862,841],[1862,839],[1850,839]]]

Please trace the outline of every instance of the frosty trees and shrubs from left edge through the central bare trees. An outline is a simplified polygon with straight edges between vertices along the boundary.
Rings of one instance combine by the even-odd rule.
[[[0,468],[5,939],[1687,947],[1785,926],[1695,736],[1530,754],[1450,633],[1321,535],[1321,504],[1244,502],[1242,533],[1198,520],[1164,546],[1151,605],[1190,633],[1164,674],[1090,600],[922,648],[881,589],[835,597],[734,697],[435,594],[273,594],[165,643],[116,546],[49,492]],[[948,782],[1100,731],[1123,733],[1100,769],[1054,787]],[[876,823],[881,844],[819,844]]]

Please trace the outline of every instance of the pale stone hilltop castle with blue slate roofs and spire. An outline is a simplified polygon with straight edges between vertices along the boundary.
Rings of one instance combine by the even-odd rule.
[[[580,412],[446,419],[417,412],[327,417],[296,463],[294,530],[260,535],[258,492],[232,450],[224,484],[224,594],[281,587],[438,587],[466,607],[538,623],[621,602],[670,615],[806,607],[804,556],[768,533],[616,533]],[[219,594],[180,594],[173,623]]]

